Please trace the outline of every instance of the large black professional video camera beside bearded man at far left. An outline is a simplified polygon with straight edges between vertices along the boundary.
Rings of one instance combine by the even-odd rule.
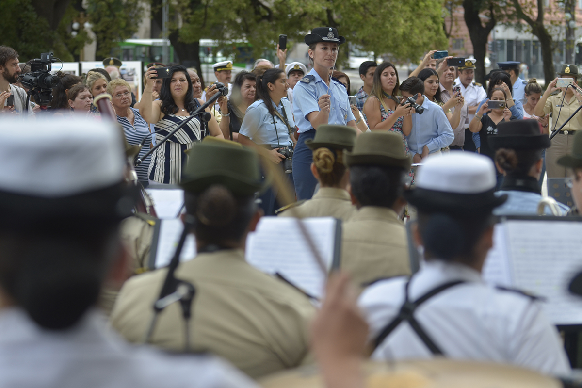
[[[58,76],[51,74],[53,58],[52,52],[43,52],[40,59],[30,63],[30,72],[20,76],[20,83],[29,89],[38,105],[47,106],[52,101],[52,88],[61,83]]]

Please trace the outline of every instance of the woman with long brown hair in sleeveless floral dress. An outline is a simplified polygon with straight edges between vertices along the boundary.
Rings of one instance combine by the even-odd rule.
[[[406,155],[410,155],[405,136],[412,130],[412,107],[410,104],[400,104],[398,90],[400,80],[396,66],[390,62],[382,62],[374,72],[372,92],[364,104],[364,118],[370,130],[384,130],[398,133],[402,137],[402,145]],[[412,170],[409,179],[414,179]]]

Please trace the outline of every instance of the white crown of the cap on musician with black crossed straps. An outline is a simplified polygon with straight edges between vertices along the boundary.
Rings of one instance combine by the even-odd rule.
[[[430,156],[416,174],[416,187],[446,193],[477,194],[495,188],[496,183],[491,159],[473,152]]]

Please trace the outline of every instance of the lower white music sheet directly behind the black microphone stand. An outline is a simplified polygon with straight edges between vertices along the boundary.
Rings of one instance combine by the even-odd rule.
[[[155,255],[155,268],[162,268],[170,264],[173,255],[176,253],[180,234],[184,229],[181,219],[160,220],[158,247]],[[196,239],[194,234],[189,234],[184,242],[184,247],[180,253],[180,262],[189,261],[196,256]]]

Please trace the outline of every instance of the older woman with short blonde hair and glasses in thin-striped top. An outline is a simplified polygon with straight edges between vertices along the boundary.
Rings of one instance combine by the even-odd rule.
[[[145,137],[150,136],[150,125],[141,117],[140,111],[131,108],[132,89],[123,79],[115,79],[107,84],[107,92],[112,95],[113,108],[117,114],[117,121],[123,127],[123,133],[130,145],[140,144]],[[143,158],[150,151],[151,141],[147,140],[141,148],[139,156]],[[148,185],[148,168],[151,156],[144,159],[143,163],[136,167],[137,179],[143,186]]]

